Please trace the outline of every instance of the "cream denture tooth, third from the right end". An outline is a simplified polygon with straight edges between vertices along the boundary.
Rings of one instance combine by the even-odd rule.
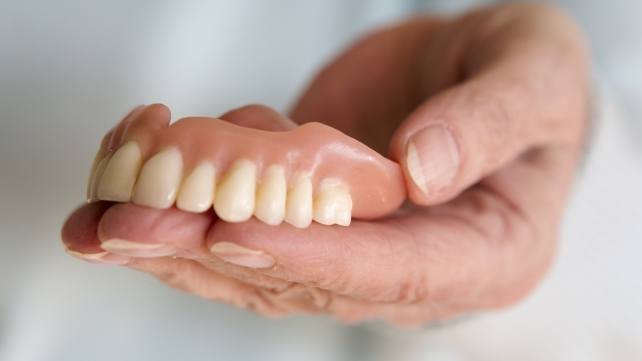
[[[283,222],[286,193],[285,169],[280,165],[269,166],[256,192],[256,218],[273,226]]]

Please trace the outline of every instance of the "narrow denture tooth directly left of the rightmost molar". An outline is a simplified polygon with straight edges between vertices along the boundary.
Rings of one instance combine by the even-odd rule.
[[[285,221],[297,228],[306,228],[312,222],[312,181],[299,175],[288,192]]]

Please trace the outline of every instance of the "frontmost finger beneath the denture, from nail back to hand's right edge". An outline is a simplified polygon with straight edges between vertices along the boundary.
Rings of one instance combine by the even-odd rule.
[[[357,300],[499,307],[527,294],[554,255],[572,161],[542,162],[551,166],[517,162],[447,205],[350,227],[220,223],[207,244],[232,264]]]

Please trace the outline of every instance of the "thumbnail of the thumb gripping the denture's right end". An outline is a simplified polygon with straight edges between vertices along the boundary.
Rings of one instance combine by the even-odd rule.
[[[408,173],[424,194],[437,193],[448,186],[457,175],[459,161],[455,138],[443,125],[428,126],[408,141]]]

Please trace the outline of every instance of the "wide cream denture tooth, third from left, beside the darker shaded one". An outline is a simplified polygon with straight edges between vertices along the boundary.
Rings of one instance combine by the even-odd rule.
[[[134,203],[165,209],[174,204],[183,177],[183,158],[178,148],[163,150],[149,158],[136,182]]]

